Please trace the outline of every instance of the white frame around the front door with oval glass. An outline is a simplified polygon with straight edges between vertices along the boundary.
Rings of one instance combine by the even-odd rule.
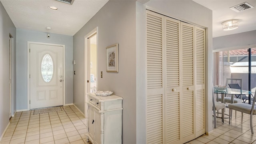
[[[65,99],[66,99],[66,70],[65,70],[65,45],[64,44],[50,44],[50,43],[44,43],[44,42],[30,42],[28,41],[27,44],[27,104],[28,104],[28,110],[30,110],[30,44],[43,44],[48,46],[62,46],[63,48],[63,105],[65,105]]]

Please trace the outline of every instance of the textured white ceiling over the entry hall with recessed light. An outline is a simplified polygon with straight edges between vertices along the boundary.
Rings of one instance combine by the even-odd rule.
[[[108,0],[0,0],[16,28],[73,36]],[[55,6],[58,10],[50,10]],[[46,30],[50,26],[51,30]]]

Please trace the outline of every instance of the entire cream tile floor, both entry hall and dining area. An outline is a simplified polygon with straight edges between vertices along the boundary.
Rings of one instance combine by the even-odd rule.
[[[74,106],[63,106],[60,112],[36,115],[33,112],[17,112],[0,144],[91,144],[84,136],[86,119]],[[240,112],[230,125],[228,119],[222,124],[217,118],[217,128],[209,136],[202,135],[187,144],[256,144],[256,118],[253,118],[255,134],[251,134],[248,114],[241,121]]]

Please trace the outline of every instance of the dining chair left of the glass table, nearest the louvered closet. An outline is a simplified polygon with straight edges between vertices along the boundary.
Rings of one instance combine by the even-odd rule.
[[[214,128],[216,128],[216,111],[221,109],[221,115],[222,115],[222,123],[224,123],[224,109],[226,107],[226,104],[221,102],[216,102],[214,100],[214,93],[212,90],[212,110],[213,110],[213,116],[214,116]]]

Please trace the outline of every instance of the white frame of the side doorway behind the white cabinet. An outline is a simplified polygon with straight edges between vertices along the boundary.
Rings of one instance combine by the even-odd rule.
[[[87,104],[86,104],[86,93],[88,93],[88,70],[90,70],[90,65],[88,64],[88,60],[90,60],[90,53],[88,49],[88,38],[96,33],[97,39],[97,59],[98,59],[98,26],[90,31],[86,36],[84,36],[84,115],[87,117]],[[98,70],[98,60],[97,60],[97,70]],[[97,72],[97,87],[98,87],[98,72]]]

